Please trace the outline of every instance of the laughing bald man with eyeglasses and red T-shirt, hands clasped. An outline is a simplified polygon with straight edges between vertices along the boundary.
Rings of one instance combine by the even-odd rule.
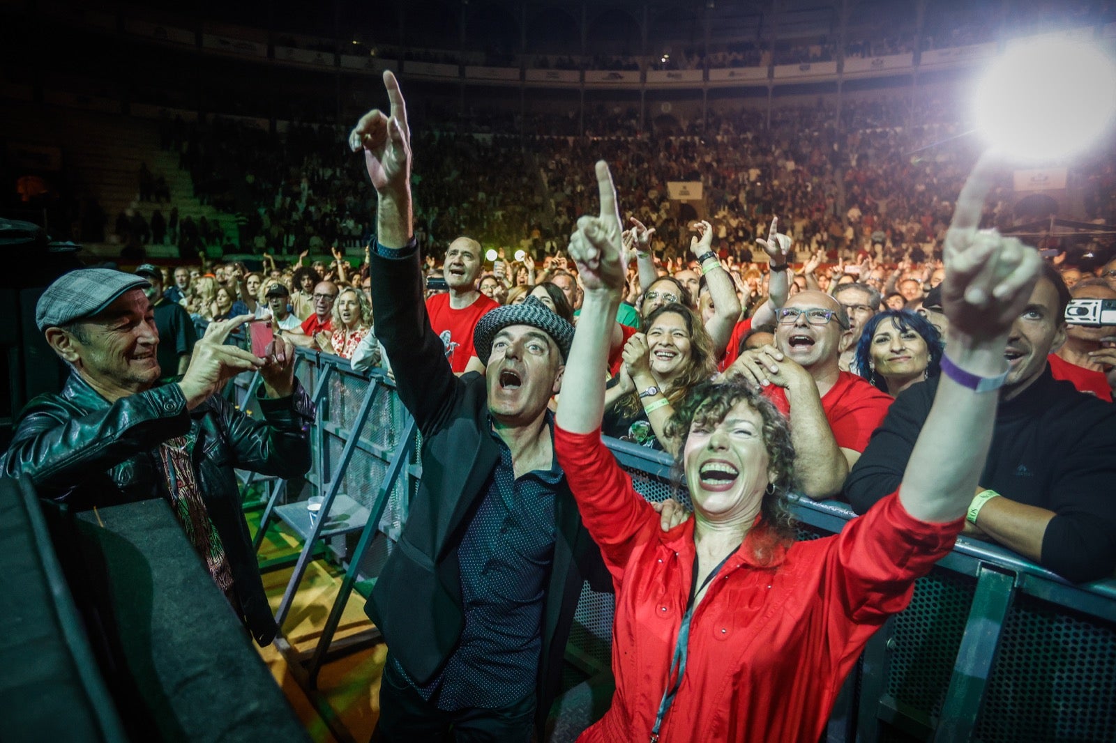
[[[838,359],[849,329],[841,305],[801,291],[776,310],[775,346],[745,350],[727,374],[763,392],[790,419],[799,492],[820,500],[840,492],[849,467],[883,422],[892,398]]]

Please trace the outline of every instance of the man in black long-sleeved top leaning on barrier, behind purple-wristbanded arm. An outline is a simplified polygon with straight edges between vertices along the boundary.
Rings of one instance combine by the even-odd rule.
[[[1079,582],[1116,568],[1116,406],[1050,376],[1068,301],[1045,264],[1008,340],[992,448],[964,533]],[[936,387],[931,379],[901,394],[873,434],[845,481],[857,513],[898,486]]]

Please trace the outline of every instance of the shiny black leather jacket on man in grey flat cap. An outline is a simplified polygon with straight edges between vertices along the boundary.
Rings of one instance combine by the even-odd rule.
[[[156,445],[193,431],[202,500],[232,568],[244,624],[260,645],[275,618],[241,513],[234,467],[294,477],[310,467],[314,405],[301,385],[290,397],[260,398],[264,421],[214,395],[193,411],[176,384],[109,404],[77,373],[59,395],[40,395],[20,413],[0,473],[30,476],[38,493],[73,511],[170,499]]]

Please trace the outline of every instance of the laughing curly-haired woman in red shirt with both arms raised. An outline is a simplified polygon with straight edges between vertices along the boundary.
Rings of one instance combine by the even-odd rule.
[[[951,357],[903,485],[841,533],[793,542],[787,423],[754,387],[702,385],[671,421],[694,518],[658,514],[600,443],[600,369],[624,290],[608,167],[602,211],[569,253],[585,287],[555,450],[616,589],[612,708],[584,741],[816,741],[868,637],[964,523],[1007,378],[1003,349],[1038,258],[978,232],[991,168],[974,170],[946,238]],[[979,499],[980,496],[978,496]]]

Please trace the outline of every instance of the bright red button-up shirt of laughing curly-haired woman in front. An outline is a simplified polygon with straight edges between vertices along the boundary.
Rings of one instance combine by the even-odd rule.
[[[600,443],[555,430],[555,453],[616,588],[605,716],[579,741],[646,741],[690,596],[694,520],[668,532]],[[892,494],[834,537],[786,546],[757,523],[694,611],[664,741],[817,741],[843,679],[964,520],[924,523]],[[757,559],[762,548],[768,559]]]

